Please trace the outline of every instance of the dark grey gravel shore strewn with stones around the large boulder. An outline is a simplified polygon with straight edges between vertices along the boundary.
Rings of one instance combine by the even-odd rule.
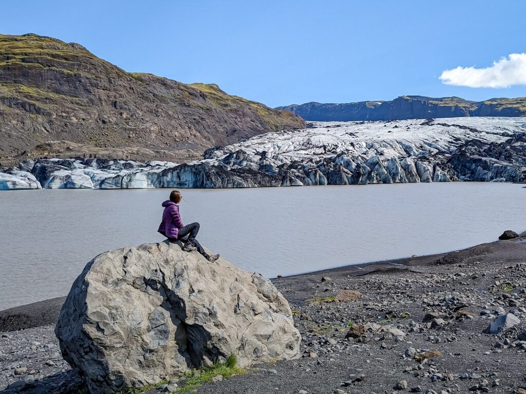
[[[294,310],[302,357],[206,383],[198,393],[526,394],[526,233],[272,282]],[[82,388],[50,324],[61,303],[0,312],[2,394]],[[13,331],[23,327],[32,328]]]

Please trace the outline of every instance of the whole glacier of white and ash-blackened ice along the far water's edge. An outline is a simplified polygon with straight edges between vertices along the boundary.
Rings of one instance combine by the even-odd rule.
[[[189,163],[26,159],[0,190],[249,188],[407,182],[526,182],[524,118],[312,122],[206,150]]]

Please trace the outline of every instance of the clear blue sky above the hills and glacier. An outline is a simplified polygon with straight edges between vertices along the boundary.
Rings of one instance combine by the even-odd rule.
[[[271,107],[526,96],[526,85],[472,88],[439,79],[444,70],[525,53],[522,1],[26,0],[2,11],[0,33],[77,42],[127,71],[215,83]],[[524,64],[510,78],[524,76]],[[458,70],[449,82],[462,84],[471,71]]]

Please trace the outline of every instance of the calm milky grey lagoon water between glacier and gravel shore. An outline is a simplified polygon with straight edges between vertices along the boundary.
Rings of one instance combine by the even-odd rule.
[[[409,183],[182,190],[185,224],[268,277],[457,250],[526,230],[526,189]],[[0,310],[66,295],[91,258],[160,242],[169,189],[0,193]]]

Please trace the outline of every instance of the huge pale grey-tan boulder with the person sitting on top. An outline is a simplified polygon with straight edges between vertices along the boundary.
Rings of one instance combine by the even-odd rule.
[[[91,393],[152,385],[230,355],[241,367],[296,358],[301,340],[268,279],[168,241],[95,257],[55,334]]]

